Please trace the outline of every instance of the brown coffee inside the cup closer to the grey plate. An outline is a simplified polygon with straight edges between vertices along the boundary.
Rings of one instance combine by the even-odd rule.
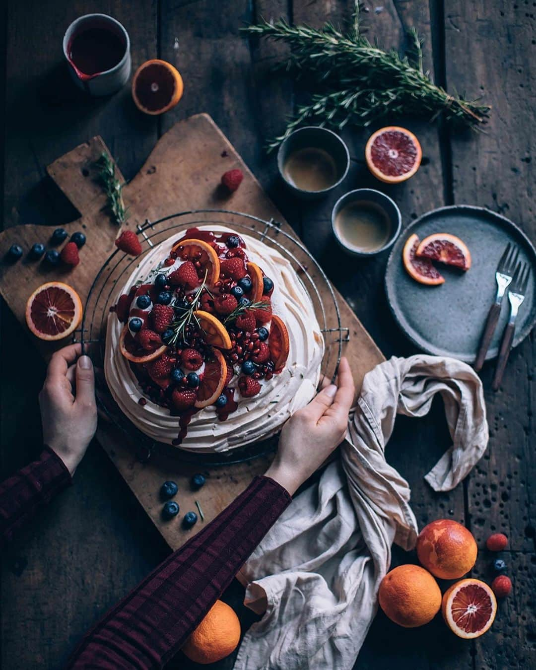
[[[340,239],[358,251],[372,252],[384,247],[391,239],[391,220],[375,202],[348,202],[335,217]]]

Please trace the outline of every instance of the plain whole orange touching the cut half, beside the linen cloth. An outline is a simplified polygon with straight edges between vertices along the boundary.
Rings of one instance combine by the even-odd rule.
[[[441,607],[438,582],[419,565],[399,565],[388,572],[378,598],[385,614],[404,628],[427,624]]]

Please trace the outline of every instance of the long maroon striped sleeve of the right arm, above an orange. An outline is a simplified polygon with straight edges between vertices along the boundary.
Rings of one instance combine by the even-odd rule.
[[[161,668],[184,645],[291,498],[256,477],[86,634],[68,668]]]

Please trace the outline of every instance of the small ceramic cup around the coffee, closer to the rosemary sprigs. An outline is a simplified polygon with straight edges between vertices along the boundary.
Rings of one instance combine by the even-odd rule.
[[[298,149],[308,148],[324,149],[335,162],[336,180],[327,188],[318,191],[304,190],[293,184],[285,175],[285,163],[289,155]],[[277,151],[277,168],[279,174],[291,191],[300,198],[319,198],[325,196],[342,182],[348,174],[349,167],[350,152],[348,151],[348,147],[336,133],[327,128],[318,128],[316,126],[299,128],[283,140],[281,145],[279,145],[279,151]]]

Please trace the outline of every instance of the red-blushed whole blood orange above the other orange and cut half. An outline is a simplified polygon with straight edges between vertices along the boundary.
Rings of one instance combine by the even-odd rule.
[[[474,537],[458,521],[438,519],[425,526],[417,537],[419,562],[442,580],[457,580],[476,561]]]

